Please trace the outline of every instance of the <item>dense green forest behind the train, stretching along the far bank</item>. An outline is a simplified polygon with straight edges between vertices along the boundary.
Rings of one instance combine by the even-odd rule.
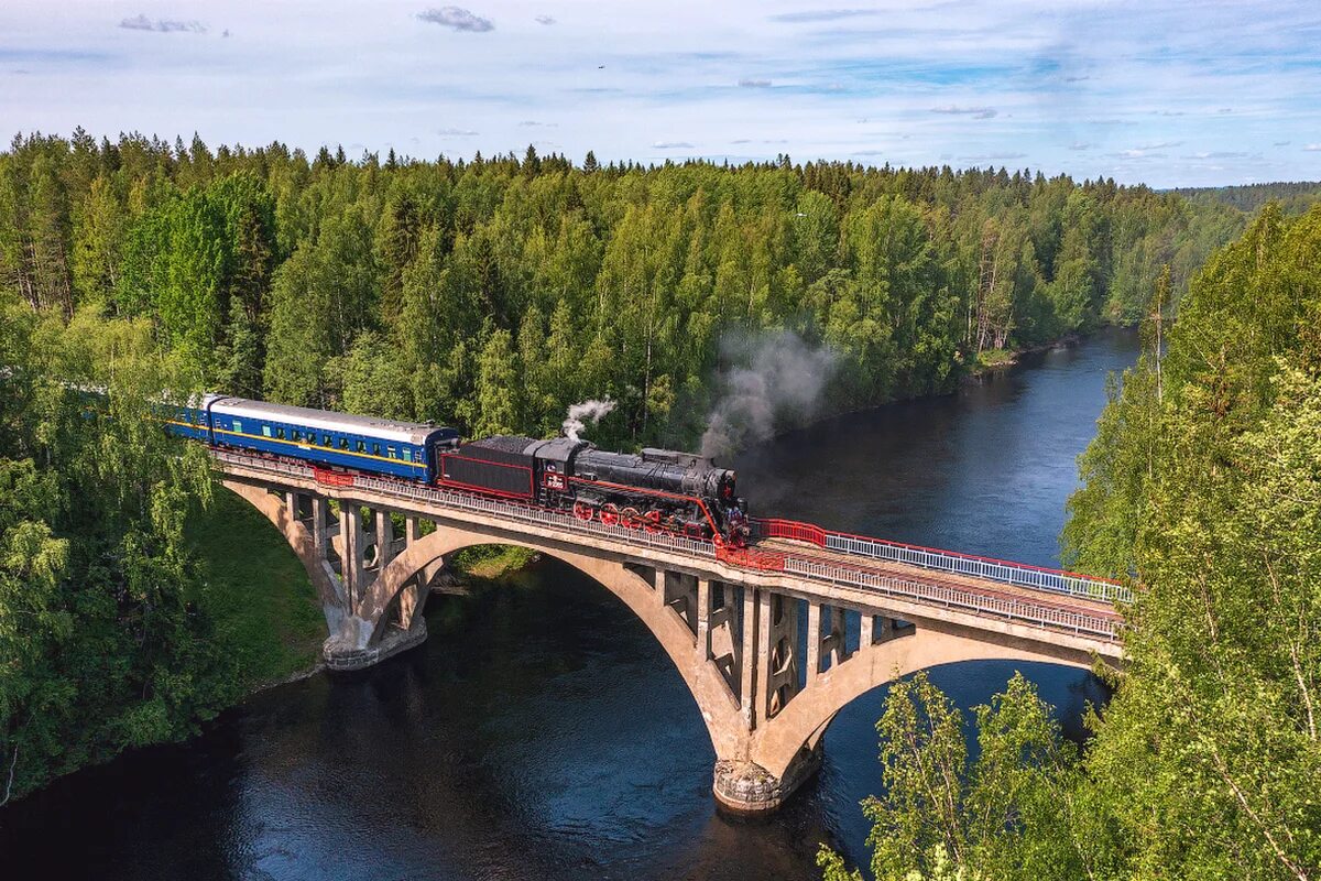
[[[952,387],[988,351],[1133,322],[1239,211],[1114,181],[839,162],[575,166],[308,159],[141,136],[16,137],[0,283],[149,318],[207,388],[690,445],[732,332],[828,347],[831,409]]]

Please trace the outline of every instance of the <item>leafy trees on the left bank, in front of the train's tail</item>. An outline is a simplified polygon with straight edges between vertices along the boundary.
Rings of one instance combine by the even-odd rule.
[[[63,326],[8,296],[0,310],[7,798],[193,733],[238,688],[184,539],[210,498],[210,465],[161,431],[149,403],[162,387],[186,394],[189,376],[162,362],[145,321],[79,312]]]

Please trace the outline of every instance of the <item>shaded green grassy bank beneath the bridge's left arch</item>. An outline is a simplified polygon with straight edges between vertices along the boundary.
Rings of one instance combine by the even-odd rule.
[[[316,589],[284,536],[251,505],[217,487],[188,540],[206,592],[201,604],[251,691],[309,670],[325,639]]]

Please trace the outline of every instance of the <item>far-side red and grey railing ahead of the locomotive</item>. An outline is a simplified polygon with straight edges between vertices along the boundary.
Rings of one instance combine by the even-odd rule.
[[[959,553],[956,551],[904,544],[902,542],[869,539],[860,535],[848,535],[847,532],[831,532],[811,523],[798,523],[794,520],[753,518],[752,526],[754,535],[758,538],[807,542],[828,551],[904,563],[938,572],[968,575],[976,579],[988,579],[1036,590],[1053,590],[1074,597],[1107,600],[1110,602],[1133,601],[1132,592],[1118,581],[1094,579],[1062,569],[1048,569],[1025,563],[1011,563],[1008,560]]]

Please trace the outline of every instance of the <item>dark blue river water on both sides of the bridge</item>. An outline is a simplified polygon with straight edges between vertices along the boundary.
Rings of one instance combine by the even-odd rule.
[[[820,423],[736,462],[754,512],[1025,563],[1057,561],[1075,457],[1131,333],[1025,359],[946,398]],[[428,642],[371,671],[247,700],[186,744],[136,750],[0,811],[5,877],[815,878],[820,841],[867,861],[885,689],[839,713],[774,816],[711,795],[683,680],[604,588],[555,561],[433,597]],[[962,707],[1016,668],[1077,732],[1090,675],[933,671]]]

